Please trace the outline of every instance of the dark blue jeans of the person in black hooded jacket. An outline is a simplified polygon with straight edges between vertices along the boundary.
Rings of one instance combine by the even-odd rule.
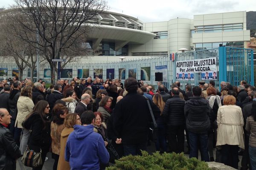
[[[193,133],[189,131],[189,158],[198,159],[198,144],[200,146],[201,160],[209,162],[209,153],[207,148],[208,136],[207,133]]]

